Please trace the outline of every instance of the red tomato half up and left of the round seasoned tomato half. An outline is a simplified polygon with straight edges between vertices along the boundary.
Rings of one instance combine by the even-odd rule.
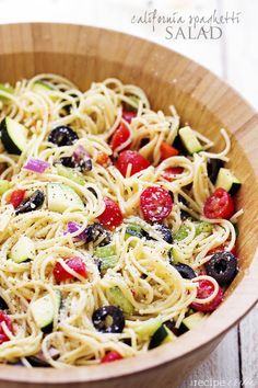
[[[145,170],[150,162],[137,151],[122,151],[115,166],[124,176],[127,174],[128,164],[131,164],[131,176],[139,171]]]

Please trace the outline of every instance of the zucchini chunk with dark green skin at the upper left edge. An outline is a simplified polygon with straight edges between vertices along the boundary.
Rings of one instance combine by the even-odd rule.
[[[9,153],[21,155],[27,145],[27,129],[10,117],[0,124],[1,140]]]

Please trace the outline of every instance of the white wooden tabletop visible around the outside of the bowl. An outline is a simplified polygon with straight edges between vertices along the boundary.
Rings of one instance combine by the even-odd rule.
[[[220,39],[165,39],[164,27],[132,24],[133,14],[241,12],[238,24],[223,26]],[[139,35],[175,49],[223,78],[258,107],[258,0],[0,0],[0,23],[66,22],[104,26]],[[258,308],[234,328],[181,385],[258,387]],[[241,380],[243,384],[241,384]]]

